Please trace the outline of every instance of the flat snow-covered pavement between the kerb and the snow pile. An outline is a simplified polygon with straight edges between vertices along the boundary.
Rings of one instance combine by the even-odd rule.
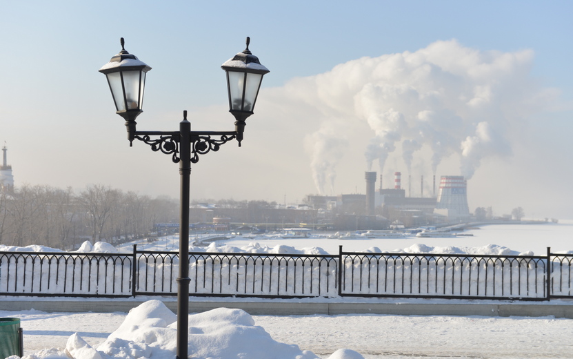
[[[63,352],[70,336],[76,332],[89,345],[97,348],[110,333],[120,327],[121,333],[125,331],[127,325],[122,325],[126,320],[126,313],[0,311],[0,316],[21,318],[25,354],[36,353],[30,358],[41,356],[38,353],[42,349],[52,348],[52,353],[57,353],[57,349],[60,348],[59,351]],[[241,316],[242,320],[248,319],[243,313]],[[197,323],[205,318],[208,317],[190,320],[190,323],[193,323],[192,327],[197,328],[199,327]],[[328,358],[341,348],[358,351],[367,359],[428,357],[514,359],[573,356],[573,342],[571,342],[573,320],[569,319],[377,315],[252,316],[252,318],[254,325],[262,329],[256,329],[254,333],[242,337],[242,340],[248,342],[250,346],[268,348],[269,338],[261,333],[264,329],[273,340],[298,345],[301,351],[312,351],[320,358]],[[145,327],[141,316],[136,321],[137,323],[128,320],[127,323]],[[190,338],[208,333],[205,328],[201,330],[203,334],[190,334]],[[228,331],[230,329],[221,329],[219,333],[228,335]],[[190,342],[197,343],[192,340]],[[234,354],[227,354],[228,356],[219,358],[240,358]],[[194,358],[207,358],[205,355]],[[172,356],[168,357],[172,359]],[[252,355],[248,358],[294,358],[294,356],[269,354]]]

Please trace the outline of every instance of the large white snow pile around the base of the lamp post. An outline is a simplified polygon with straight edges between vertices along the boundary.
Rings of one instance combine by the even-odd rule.
[[[197,359],[318,359],[296,345],[279,343],[241,309],[219,308],[189,316],[188,354]],[[119,328],[97,349],[77,333],[66,345],[68,357],[57,349],[23,359],[172,359],[177,347],[177,317],[159,300],[130,311]],[[330,359],[363,359],[356,351],[340,349]]]

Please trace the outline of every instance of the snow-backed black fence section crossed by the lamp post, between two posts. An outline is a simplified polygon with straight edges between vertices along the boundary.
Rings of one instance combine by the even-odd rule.
[[[177,253],[140,253],[137,293],[176,294]],[[332,255],[190,253],[190,294],[332,297],[338,290],[337,259]]]

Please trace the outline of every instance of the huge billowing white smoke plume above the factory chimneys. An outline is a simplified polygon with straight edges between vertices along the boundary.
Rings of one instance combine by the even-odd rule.
[[[382,172],[388,156],[401,151],[408,169],[424,155],[435,174],[443,159],[456,155],[468,179],[484,158],[511,155],[519,109],[541,91],[531,86],[532,59],[532,50],[480,51],[436,41],[290,81],[285,96],[321,114],[312,119],[320,126],[305,146],[316,188],[333,188],[336,166],[351,145],[363,146],[367,171],[377,162]],[[352,129],[363,126],[370,135],[353,141]]]

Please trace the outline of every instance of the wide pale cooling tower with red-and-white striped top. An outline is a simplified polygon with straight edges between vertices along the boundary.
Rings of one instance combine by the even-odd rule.
[[[437,210],[444,212],[448,220],[459,220],[470,215],[467,184],[463,176],[442,176],[438,191]]]

